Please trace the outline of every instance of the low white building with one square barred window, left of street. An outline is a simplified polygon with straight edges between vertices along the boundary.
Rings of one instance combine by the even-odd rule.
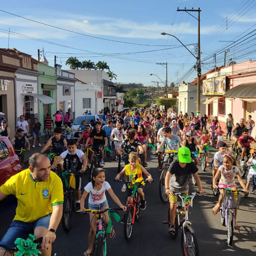
[[[93,115],[103,109],[101,87],[96,83],[83,82],[76,78],[75,83],[75,113],[76,117],[82,116],[87,110]]]

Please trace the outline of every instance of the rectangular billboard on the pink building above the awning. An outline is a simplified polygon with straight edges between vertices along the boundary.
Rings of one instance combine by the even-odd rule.
[[[203,81],[203,95],[223,95],[226,92],[226,76],[218,76]]]

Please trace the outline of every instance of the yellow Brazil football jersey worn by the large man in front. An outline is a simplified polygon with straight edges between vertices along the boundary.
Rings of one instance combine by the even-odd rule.
[[[0,190],[17,198],[15,221],[36,221],[50,214],[52,206],[63,203],[62,181],[52,171],[47,181],[36,182],[30,170],[25,169],[7,180]]]

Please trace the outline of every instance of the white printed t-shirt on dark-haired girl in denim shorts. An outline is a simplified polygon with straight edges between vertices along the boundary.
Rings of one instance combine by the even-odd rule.
[[[85,187],[84,190],[87,191],[87,193],[89,193],[89,200],[88,203],[89,204],[101,204],[104,201],[106,201],[106,195],[105,195],[105,191],[109,190],[111,188],[110,184],[108,181],[104,181],[102,184],[102,187],[100,190],[96,190],[93,187],[92,182],[89,182]]]

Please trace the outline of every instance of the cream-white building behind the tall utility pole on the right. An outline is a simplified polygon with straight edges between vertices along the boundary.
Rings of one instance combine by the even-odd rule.
[[[201,98],[202,98],[202,86],[201,86]],[[205,97],[204,97],[205,98]],[[179,112],[182,111],[183,114],[197,111],[197,85],[191,85],[191,83],[183,82],[179,86]],[[205,105],[201,100],[201,115],[204,114]]]

